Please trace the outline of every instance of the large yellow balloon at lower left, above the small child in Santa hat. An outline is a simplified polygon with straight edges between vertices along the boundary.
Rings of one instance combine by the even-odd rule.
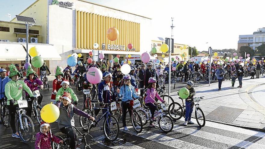
[[[59,118],[60,111],[55,104],[46,104],[44,107],[42,107],[40,116],[46,123],[53,123]]]

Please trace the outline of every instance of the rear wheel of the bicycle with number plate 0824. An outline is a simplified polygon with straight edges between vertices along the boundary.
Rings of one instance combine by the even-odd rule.
[[[173,120],[179,120],[182,117],[183,109],[181,105],[177,102],[173,102],[168,107],[169,116]]]

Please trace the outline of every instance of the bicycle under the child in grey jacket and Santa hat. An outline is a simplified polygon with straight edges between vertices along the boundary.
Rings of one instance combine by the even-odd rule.
[[[90,120],[91,122],[91,120]],[[84,132],[84,133],[81,133],[79,129],[82,129],[84,127],[90,127],[91,126],[91,123],[89,122],[88,125],[86,126],[83,126],[83,127],[75,127],[75,126],[69,126],[69,127],[66,127],[66,128],[70,128],[72,127],[73,129],[75,129],[83,138],[82,139],[77,139],[77,144],[76,144],[76,149],[91,149],[90,147],[90,144],[87,140],[87,138],[89,138],[89,136],[94,140],[94,138],[89,135],[89,131],[88,132]],[[87,136],[87,137],[86,137]],[[58,138],[60,138],[61,140],[63,140],[63,143],[56,143],[56,142],[52,142],[51,143],[51,148],[52,149],[68,149],[70,147],[70,138],[62,138],[61,136],[56,136]]]

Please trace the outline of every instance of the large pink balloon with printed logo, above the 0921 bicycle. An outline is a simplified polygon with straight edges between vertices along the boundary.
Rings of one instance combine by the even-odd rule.
[[[86,79],[91,84],[98,84],[99,82],[101,82],[102,76],[102,72],[96,67],[89,68],[86,73]]]

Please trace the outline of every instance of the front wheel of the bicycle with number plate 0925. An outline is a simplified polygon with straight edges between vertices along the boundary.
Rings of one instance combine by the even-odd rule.
[[[21,115],[21,122],[22,124],[20,124],[20,120],[18,120],[18,129],[17,129],[20,136],[20,140],[28,144],[32,141],[34,137],[34,131],[35,131],[34,125],[30,117],[25,114]],[[29,126],[29,124],[31,126]]]

